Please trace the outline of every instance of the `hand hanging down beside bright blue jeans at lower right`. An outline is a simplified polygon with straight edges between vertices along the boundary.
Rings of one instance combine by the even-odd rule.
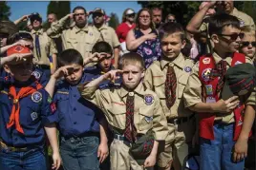
[[[248,141],[239,139],[234,146],[233,161],[242,161],[247,157]]]

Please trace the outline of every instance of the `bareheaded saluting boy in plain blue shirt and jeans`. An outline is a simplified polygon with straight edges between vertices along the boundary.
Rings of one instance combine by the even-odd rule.
[[[52,75],[46,89],[53,95],[56,80],[64,76],[56,85],[53,97],[64,169],[99,169],[99,162],[108,156],[107,123],[104,126],[100,109],[81,98],[78,92],[77,85],[86,80],[83,58],[77,50],[66,49],[58,58],[58,65],[60,68]]]

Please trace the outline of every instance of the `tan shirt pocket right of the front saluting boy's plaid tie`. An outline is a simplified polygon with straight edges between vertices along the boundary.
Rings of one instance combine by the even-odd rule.
[[[139,108],[139,131],[147,131],[153,127],[152,106],[143,106]]]

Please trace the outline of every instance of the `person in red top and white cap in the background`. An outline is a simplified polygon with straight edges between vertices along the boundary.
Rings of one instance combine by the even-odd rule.
[[[126,48],[125,40],[129,30],[135,28],[135,14],[134,9],[125,9],[122,13],[122,23],[116,29],[122,53],[129,52]]]

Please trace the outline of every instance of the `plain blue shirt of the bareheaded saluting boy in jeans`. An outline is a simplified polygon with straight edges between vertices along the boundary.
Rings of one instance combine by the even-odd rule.
[[[86,81],[83,74],[79,84]],[[53,103],[56,104],[56,122],[61,136],[81,137],[87,132],[99,132],[102,111],[95,104],[81,97],[77,85],[60,81],[55,88]]]

